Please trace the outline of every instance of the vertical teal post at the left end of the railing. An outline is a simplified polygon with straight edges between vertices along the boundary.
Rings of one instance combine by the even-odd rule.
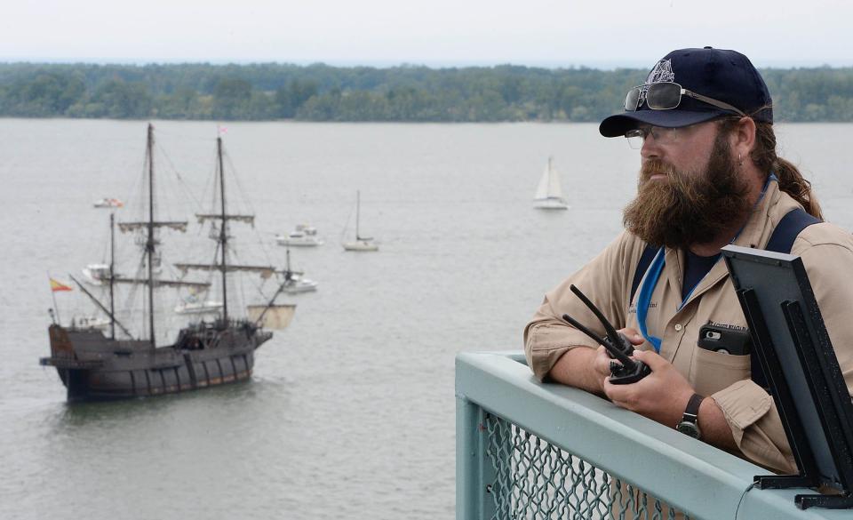
[[[485,412],[464,396],[456,398],[456,518],[489,520],[495,501],[490,493],[495,470],[486,450]]]

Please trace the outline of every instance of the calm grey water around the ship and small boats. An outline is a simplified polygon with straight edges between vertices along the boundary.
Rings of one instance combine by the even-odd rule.
[[[184,185],[209,194],[215,125],[155,126]],[[851,130],[777,131],[845,228]],[[296,316],[251,383],[68,405],[37,364],[46,273],[102,260],[108,212],[92,202],[139,183],[145,123],[0,120],[0,518],[453,517],[455,354],[522,348],[542,294],[621,228],[637,152],[592,124],[228,124],[224,139],[274,260],[275,233],[325,237],[293,250],[319,291],[283,300]],[[531,207],[549,155],[566,212]],[[377,253],[339,246],[356,189]],[[60,310],[76,296],[58,293]]]

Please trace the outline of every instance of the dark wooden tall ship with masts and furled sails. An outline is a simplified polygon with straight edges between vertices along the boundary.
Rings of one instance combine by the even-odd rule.
[[[268,329],[286,327],[293,316],[294,305],[278,305],[275,300],[285,289],[278,284],[275,293],[263,298],[258,304],[245,306],[238,311],[229,301],[228,277],[239,274],[260,275],[267,279],[284,274],[273,266],[238,265],[232,263],[232,223],[254,224],[254,216],[227,211],[226,178],[223,164],[222,139],[217,137],[216,188],[213,200],[216,210],[196,214],[200,225],[210,225],[209,236],[216,243],[214,260],[207,263],[182,263],[175,267],[181,273],[204,271],[208,280],[189,281],[170,279],[157,268],[161,250],[161,233],[166,231],[186,232],[188,221],[158,220],[155,212],[155,167],[154,127],[148,124],[145,156],[143,198],[147,199],[147,219],[118,222],[124,233],[136,237],[142,252],[136,264],[135,276],[116,274],[115,225],[111,215],[110,249],[108,271],[102,276],[103,295],[95,294],[77,282],[92,302],[108,317],[108,326],[93,327],[86,322],[72,320],[61,324],[58,312],[53,313],[53,323],[48,332],[51,356],[40,359],[40,364],[53,366],[68,390],[69,401],[117,399],[139,396],[157,396],[210,388],[235,381],[249,380],[255,362],[255,350],[270,340],[273,332]],[[143,213],[143,214],[144,214]],[[122,272],[128,272],[124,269]],[[156,344],[155,327],[163,326],[167,318],[174,317],[173,306],[157,305],[155,293],[161,291],[186,291],[191,294],[206,294],[211,285],[219,285],[221,300],[210,306],[210,313],[179,316],[194,319],[177,332],[177,338],[168,345]],[[142,311],[118,319],[116,292],[139,289]],[[162,299],[160,299],[162,300]],[[242,310],[242,309],[241,309]],[[168,316],[167,316],[168,315]],[[140,331],[134,332],[130,320],[141,322]],[[128,323],[124,323],[128,320]],[[186,323],[186,322],[185,322]],[[161,337],[163,332],[161,332]]]

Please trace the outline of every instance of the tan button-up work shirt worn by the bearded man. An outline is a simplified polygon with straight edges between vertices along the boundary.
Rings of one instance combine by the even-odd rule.
[[[736,245],[763,248],[785,213],[798,204],[769,183]],[[634,271],[645,243],[623,232],[577,273],[546,294],[524,329],[524,351],[530,368],[545,380],[570,348],[597,348],[594,340],[562,321],[564,313],[604,336],[598,320],[569,290],[575,284],[610,320],[639,330],[636,295],[627,304]],[[647,331],[662,340],[660,355],[682,373],[696,391],[712,396],[724,413],[737,446],[754,462],[795,473],[796,465],[773,398],[750,380],[750,356],[733,356],[697,347],[699,327],[713,323],[746,327],[725,262],[718,261],[682,306],[683,252],[666,250],[666,266],[652,292]],[[800,256],[826,329],[833,342],[848,389],[853,388],[853,236],[828,223],[805,228],[791,254]],[[639,293],[639,290],[637,291]],[[638,348],[651,349],[648,341]],[[674,425],[673,425],[674,426]]]

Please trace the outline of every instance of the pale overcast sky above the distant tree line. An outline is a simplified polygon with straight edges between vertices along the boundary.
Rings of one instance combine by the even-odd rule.
[[[0,60],[650,68],[712,45],[853,66],[851,0],[4,0]]]

